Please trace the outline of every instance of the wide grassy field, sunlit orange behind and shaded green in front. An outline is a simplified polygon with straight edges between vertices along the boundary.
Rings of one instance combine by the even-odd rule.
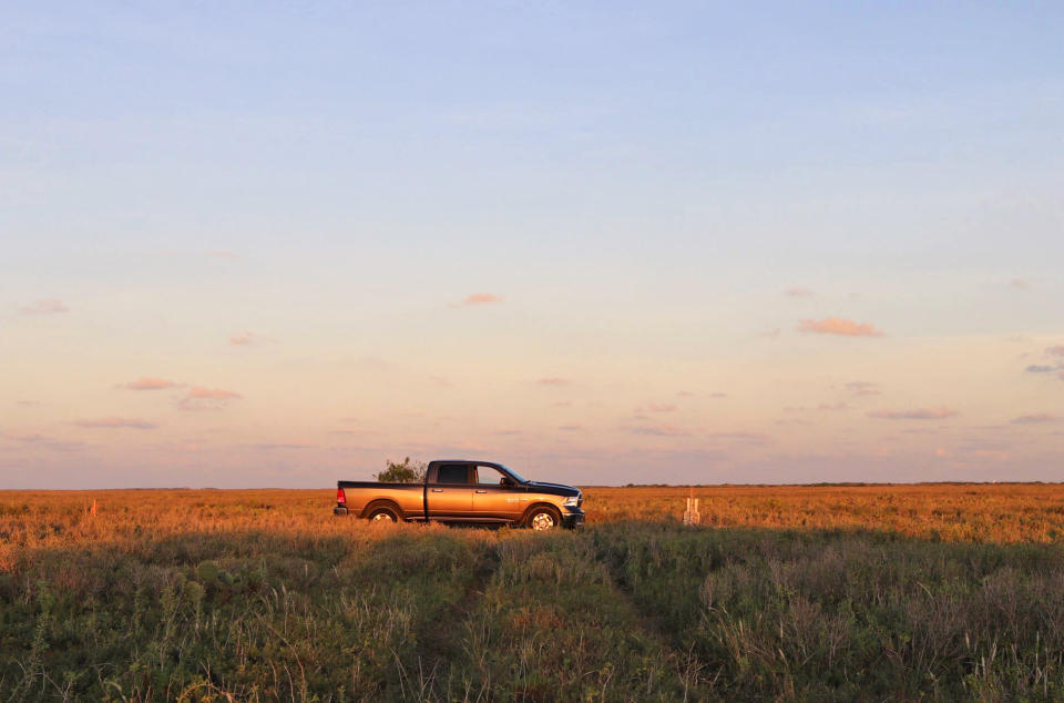
[[[0,701],[1064,700],[1064,486],[687,495],[536,534],[0,492]]]

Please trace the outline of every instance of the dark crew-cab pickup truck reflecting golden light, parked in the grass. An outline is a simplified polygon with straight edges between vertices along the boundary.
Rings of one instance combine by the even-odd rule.
[[[371,521],[480,522],[533,530],[575,528],[584,522],[579,488],[530,481],[491,461],[431,461],[424,483],[337,481],[338,516]]]

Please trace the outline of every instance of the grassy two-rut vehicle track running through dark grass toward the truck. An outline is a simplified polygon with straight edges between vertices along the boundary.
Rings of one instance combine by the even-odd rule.
[[[684,658],[642,626],[583,534],[509,533],[468,614],[459,697],[704,700]]]

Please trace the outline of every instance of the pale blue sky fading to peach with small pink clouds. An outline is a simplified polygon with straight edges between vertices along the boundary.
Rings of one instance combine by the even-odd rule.
[[[0,26],[0,488],[1064,479],[1064,4]]]

